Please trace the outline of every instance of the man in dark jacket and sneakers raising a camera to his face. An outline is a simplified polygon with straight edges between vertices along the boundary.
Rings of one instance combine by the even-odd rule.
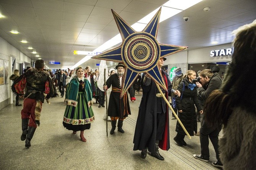
[[[216,89],[219,89],[222,84],[222,79],[218,72],[213,73],[210,69],[204,69],[200,73],[200,82],[196,82],[196,85],[199,90],[199,95],[204,101],[210,95],[210,93]],[[219,132],[221,130],[221,124],[210,127],[207,122],[203,119],[203,124],[200,128],[200,144],[201,144],[201,154],[194,154],[194,158],[203,160],[204,162],[209,162],[209,138],[214,147],[217,162],[212,162],[212,165],[215,167],[222,167],[222,163],[219,159],[218,151],[218,141],[219,141]]]

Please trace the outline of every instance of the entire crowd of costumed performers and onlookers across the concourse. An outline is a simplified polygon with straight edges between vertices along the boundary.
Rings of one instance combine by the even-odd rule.
[[[156,82],[145,73],[136,77],[134,85],[128,89],[130,100],[136,101],[135,89],[142,98],[138,110],[138,118],[134,132],[134,151],[141,151],[146,159],[147,152],[156,159],[164,160],[159,148],[170,148],[169,106],[164,98],[170,96],[175,114],[190,136],[199,133],[201,154],[194,154],[195,159],[209,162],[209,139],[214,147],[215,167],[224,169],[253,169],[256,166],[256,114],[254,80],[250,79],[256,64],[256,21],[235,30],[234,53],[231,64],[225,72],[225,79],[219,75],[217,66],[209,66],[198,72],[188,70],[183,75],[181,68],[174,70],[172,82],[167,72],[161,70],[167,91],[158,88]],[[166,58],[159,58],[158,66],[162,67]],[[250,61],[250,62],[248,62]],[[241,74],[240,68],[244,69]],[[115,69],[109,70],[105,91],[110,91],[108,115],[111,119],[110,134],[125,133],[123,121],[131,114],[127,92],[120,98],[125,65],[118,63]],[[44,70],[44,61],[39,59],[35,68],[28,68],[19,76],[18,70],[10,77],[13,80],[12,90],[16,93],[16,106],[21,106],[18,97],[23,98],[21,111],[21,140],[25,147],[31,147],[31,140],[40,125],[40,112],[44,99],[65,96],[66,109],[63,115],[63,126],[73,134],[80,131],[81,141],[86,142],[84,130],[94,122],[92,109],[93,98],[98,107],[105,107],[105,91],[100,90],[99,69],[92,71],[90,66],[85,69],[79,66],[74,70]],[[251,82],[253,81],[253,82]],[[223,82],[223,83],[222,83]],[[246,87],[245,87],[246,85]],[[65,93],[66,92],[66,93]],[[198,112],[198,113],[196,113]],[[172,120],[174,120],[174,115]],[[197,122],[201,123],[198,132]],[[219,140],[219,133],[224,126],[224,136]],[[177,121],[173,140],[178,146],[186,146],[185,131]]]

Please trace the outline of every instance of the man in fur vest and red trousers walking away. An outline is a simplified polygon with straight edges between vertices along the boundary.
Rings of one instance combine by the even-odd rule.
[[[17,95],[24,95],[23,109],[21,111],[21,140],[25,141],[25,147],[31,146],[30,141],[40,125],[40,114],[44,98],[57,96],[49,72],[43,71],[44,60],[39,59],[35,63],[36,68],[28,69],[12,85],[11,89]],[[24,89],[26,93],[24,93]],[[44,93],[47,94],[44,97]]]

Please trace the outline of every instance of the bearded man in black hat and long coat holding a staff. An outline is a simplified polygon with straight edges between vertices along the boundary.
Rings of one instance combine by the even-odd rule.
[[[129,100],[127,92],[120,99],[121,87],[122,87],[122,79],[124,74],[125,65],[119,63],[116,67],[117,73],[113,74],[107,79],[107,86],[103,86],[103,89],[110,88],[112,86],[112,91],[109,97],[109,107],[108,107],[108,115],[111,118],[112,129],[110,130],[110,134],[112,135],[115,131],[116,124],[118,127],[118,132],[125,133],[123,130],[123,120],[131,114]],[[130,93],[131,102],[134,102],[136,98],[134,97],[133,86],[128,89]],[[118,119],[118,123],[117,123]]]

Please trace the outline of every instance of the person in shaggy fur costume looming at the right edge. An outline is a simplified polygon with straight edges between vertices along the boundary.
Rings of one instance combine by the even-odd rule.
[[[223,169],[254,170],[256,20],[232,33],[236,36],[233,41],[232,61],[227,66],[222,86],[213,91],[206,100],[205,122],[212,126],[219,123],[224,125],[223,136],[219,141],[219,157]]]

